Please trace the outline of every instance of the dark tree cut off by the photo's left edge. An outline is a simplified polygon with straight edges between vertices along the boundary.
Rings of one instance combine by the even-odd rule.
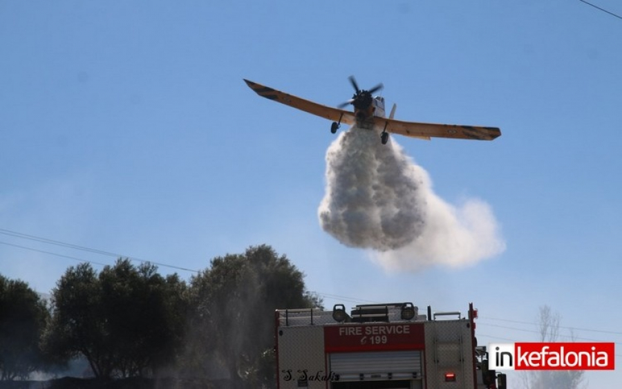
[[[48,316],[46,304],[27,283],[0,275],[0,379],[26,379],[45,368],[39,336]]]

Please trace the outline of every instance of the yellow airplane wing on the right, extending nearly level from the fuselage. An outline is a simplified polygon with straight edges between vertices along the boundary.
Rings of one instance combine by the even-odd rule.
[[[453,137],[458,139],[493,140],[501,135],[496,127],[456,126],[453,124],[432,124],[402,122],[401,120],[374,117],[374,124],[388,133],[430,140],[431,137]]]

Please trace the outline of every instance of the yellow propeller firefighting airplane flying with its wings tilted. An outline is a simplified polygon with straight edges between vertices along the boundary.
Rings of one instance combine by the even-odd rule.
[[[332,120],[333,122],[330,126],[330,132],[332,133],[337,132],[341,123],[356,125],[360,129],[377,129],[377,131],[381,131],[380,140],[382,144],[386,144],[388,141],[389,133],[417,137],[424,140],[430,140],[431,137],[493,140],[501,135],[500,129],[496,127],[457,126],[453,124],[416,123],[395,120],[393,119],[396,108],[395,104],[391,108],[389,117],[385,117],[384,97],[373,96],[373,93],[382,88],[382,84],[378,84],[365,91],[359,89],[354,77],[350,76],[349,79],[350,84],[355,89],[355,94],[352,96],[352,99],[341,104],[339,108],[324,106],[294,95],[288,95],[247,79],[244,81],[262,97]],[[354,112],[341,109],[348,106],[348,104],[354,106]]]

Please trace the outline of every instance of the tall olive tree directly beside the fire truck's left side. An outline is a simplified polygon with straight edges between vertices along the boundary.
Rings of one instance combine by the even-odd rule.
[[[211,267],[191,278],[194,336],[189,366],[219,361],[232,387],[260,387],[274,380],[274,310],[321,305],[308,293],[304,275],[272,247],[249,247],[244,254],[211,260]]]

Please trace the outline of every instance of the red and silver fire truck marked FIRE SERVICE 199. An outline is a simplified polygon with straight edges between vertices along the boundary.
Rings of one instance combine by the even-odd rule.
[[[419,314],[412,303],[276,310],[277,387],[505,389],[475,339],[477,310]]]

